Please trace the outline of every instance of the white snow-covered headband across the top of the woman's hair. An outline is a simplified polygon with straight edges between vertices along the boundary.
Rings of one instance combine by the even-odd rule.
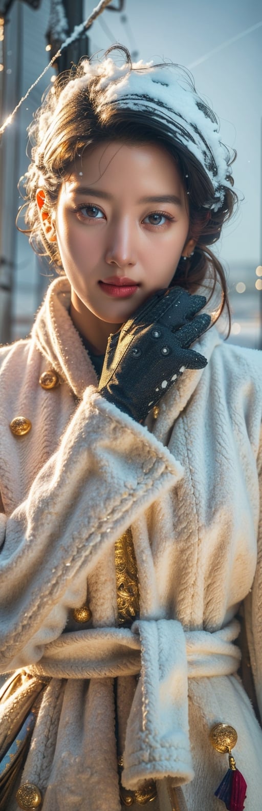
[[[82,75],[63,88],[58,107],[75,92],[88,88],[101,121],[106,120],[109,105],[148,112],[200,161],[214,189],[208,208],[215,212],[221,208],[225,187],[231,188],[230,151],[220,140],[217,117],[183,68],[165,63],[159,67],[142,60],[118,66],[104,58],[98,62],[84,59],[81,69]]]

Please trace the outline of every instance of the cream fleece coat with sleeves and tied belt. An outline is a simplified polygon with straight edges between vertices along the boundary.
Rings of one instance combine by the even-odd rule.
[[[118,676],[127,788],[154,778],[152,808],[170,811],[173,786],[188,811],[219,811],[227,759],[208,735],[225,721],[245,811],[260,811],[262,732],[236,675],[241,607],[261,709],[260,353],[211,328],[194,345],[208,366],[142,426],[97,392],[69,303],[54,281],[32,336],[0,350],[0,672],[51,677],[23,782],[43,811],[120,811]],[[49,368],[60,384],[45,391]],[[26,436],[11,432],[18,415]],[[114,542],[129,526],[140,620],[118,629]],[[86,600],[92,622],[77,626]]]

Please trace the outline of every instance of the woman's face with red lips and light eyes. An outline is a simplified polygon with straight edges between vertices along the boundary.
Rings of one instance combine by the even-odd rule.
[[[166,288],[187,244],[187,196],[177,166],[154,144],[100,144],[62,182],[55,217],[71,317],[105,350],[140,304]]]

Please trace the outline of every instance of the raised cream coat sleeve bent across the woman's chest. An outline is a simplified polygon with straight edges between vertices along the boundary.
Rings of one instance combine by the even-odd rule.
[[[147,428],[88,387],[27,500],[0,515],[0,672],[41,658],[105,545],[182,474]]]

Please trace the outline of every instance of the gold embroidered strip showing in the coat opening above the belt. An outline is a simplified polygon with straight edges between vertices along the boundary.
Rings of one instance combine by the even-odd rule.
[[[131,624],[140,614],[140,592],[131,529],[114,544],[118,625]]]

